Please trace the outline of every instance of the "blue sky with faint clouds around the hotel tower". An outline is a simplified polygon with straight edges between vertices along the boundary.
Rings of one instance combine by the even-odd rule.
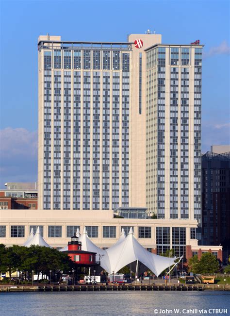
[[[230,1],[0,1],[0,187],[36,181],[37,37],[125,41],[147,29],[163,43],[204,47],[202,151],[230,144]]]

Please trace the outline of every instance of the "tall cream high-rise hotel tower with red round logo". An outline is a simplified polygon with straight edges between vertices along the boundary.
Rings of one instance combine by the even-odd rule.
[[[39,36],[38,208],[200,220],[201,50]]]

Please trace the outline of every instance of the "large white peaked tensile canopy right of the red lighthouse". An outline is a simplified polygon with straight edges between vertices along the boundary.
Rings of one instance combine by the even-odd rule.
[[[106,250],[100,249],[90,240],[85,228],[79,241],[82,242],[82,250],[96,252],[99,255],[100,266],[108,273],[116,273],[124,266],[137,262],[158,276],[164,269],[175,264],[176,257],[163,257],[146,250],[135,238],[132,228],[127,237],[122,230],[115,245]],[[65,250],[66,247],[60,251]]]

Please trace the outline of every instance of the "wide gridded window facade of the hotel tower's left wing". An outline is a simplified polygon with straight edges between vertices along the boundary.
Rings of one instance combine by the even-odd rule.
[[[43,208],[128,206],[130,52],[44,50],[44,68]]]

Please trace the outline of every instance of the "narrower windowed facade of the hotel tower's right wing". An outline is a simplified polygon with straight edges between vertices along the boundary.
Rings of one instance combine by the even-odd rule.
[[[160,46],[147,51],[146,192],[148,212],[155,213],[158,218],[165,218],[165,212],[169,212],[169,218],[188,219],[189,209],[193,208],[194,205],[194,217],[199,222],[201,220],[201,50],[201,48],[193,47]],[[192,65],[193,58],[191,56],[193,54],[195,61]],[[165,80],[166,63],[170,65],[170,72],[167,73],[168,77],[166,78],[170,81],[170,87],[166,85]],[[191,80],[193,77],[192,69],[195,71],[194,82]],[[158,85],[156,86],[157,80]],[[158,87],[158,95],[156,87]],[[194,100],[193,94],[191,94],[193,88]],[[169,100],[167,101],[168,104],[165,104],[165,97]],[[193,102],[194,118],[193,115],[191,116]],[[189,131],[193,129],[194,147],[193,137],[189,138]],[[167,139],[167,145],[165,139]],[[165,160],[166,151],[168,158]],[[189,170],[194,170],[194,176],[190,176],[191,179],[189,179]],[[170,179],[168,196],[165,195],[165,174],[167,174],[167,179],[168,177]],[[157,181],[155,180],[156,177]],[[189,205],[189,194],[191,194],[189,193],[189,183],[193,181],[194,204],[191,202]],[[193,219],[193,216],[190,219]]]

